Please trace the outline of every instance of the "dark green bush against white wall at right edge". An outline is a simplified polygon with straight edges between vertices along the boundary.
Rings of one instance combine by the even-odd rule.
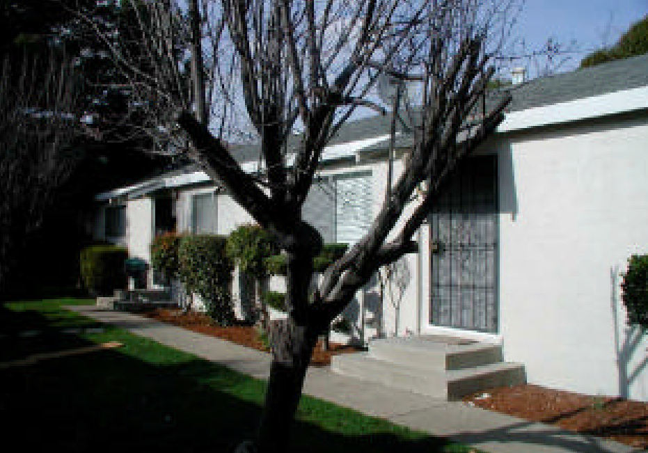
[[[621,284],[629,324],[648,327],[648,255],[632,255]]]

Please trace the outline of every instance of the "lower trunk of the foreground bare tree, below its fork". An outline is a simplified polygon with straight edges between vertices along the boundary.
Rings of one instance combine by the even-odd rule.
[[[317,331],[310,326],[297,325],[289,318],[273,322],[269,337],[274,359],[258,430],[259,453],[288,450],[306,370],[317,343]]]

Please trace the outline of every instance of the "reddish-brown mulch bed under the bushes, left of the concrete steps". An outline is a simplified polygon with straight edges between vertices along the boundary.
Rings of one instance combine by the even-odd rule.
[[[198,312],[182,312],[177,308],[156,308],[155,310],[148,310],[141,313],[145,317],[157,319],[158,321],[168,322],[174,326],[187,328],[190,331],[204,333],[212,337],[219,337],[223,340],[229,340],[232,343],[242,344],[246,347],[258,349],[259,351],[269,352],[269,349],[264,346],[259,338],[258,332],[253,326],[228,326],[220,327],[214,326],[210,321],[210,317],[203,313]],[[337,344],[331,342],[329,349],[324,351],[322,347],[322,340],[317,342],[313,358],[310,360],[310,365],[316,367],[325,367],[331,364],[331,357],[340,353],[358,352],[362,349],[357,347],[345,346],[344,344]]]

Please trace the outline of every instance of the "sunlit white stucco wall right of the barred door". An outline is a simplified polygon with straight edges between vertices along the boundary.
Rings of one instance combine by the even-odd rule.
[[[629,255],[648,252],[647,118],[515,134],[496,148],[505,358],[530,383],[648,400],[648,341],[621,351],[619,296]]]

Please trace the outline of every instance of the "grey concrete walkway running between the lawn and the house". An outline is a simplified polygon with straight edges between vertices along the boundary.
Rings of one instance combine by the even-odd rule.
[[[258,379],[268,377],[271,357],[267,353],[125,312],[88,305],[71,309],[141,337],[221,363],[237,372]],[[487,452],[641,451],[592,436],[572,434],[546,424],[485,411],[461,402],[446,402],[340,376],[328,368],[312,367],[309,370],[304,393],[434,436],[452,438]]]

